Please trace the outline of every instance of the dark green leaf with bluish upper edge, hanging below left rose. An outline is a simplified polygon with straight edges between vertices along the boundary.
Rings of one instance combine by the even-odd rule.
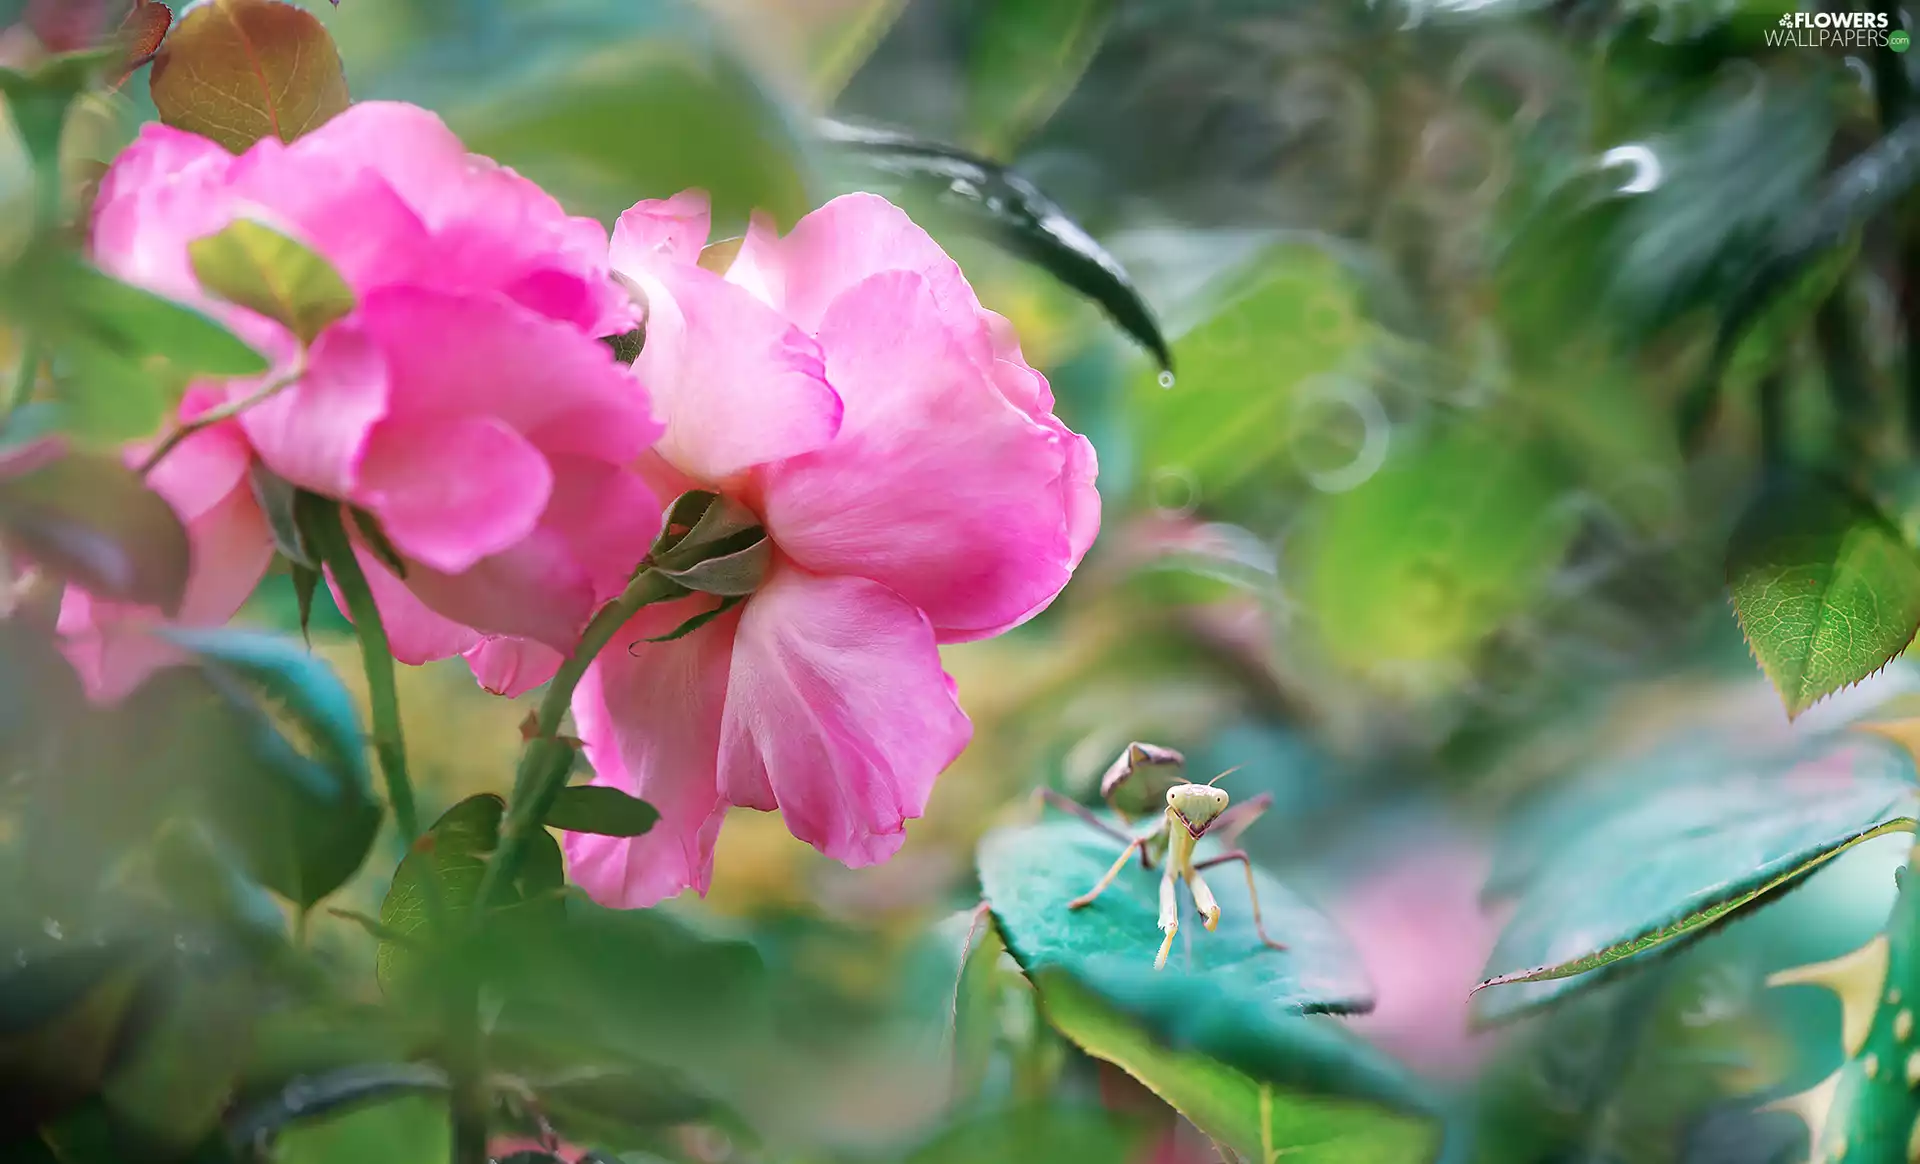
[[[380,828],[353,697],[276,634],[165,634],[200,657],[246,757],[204,774],[215,824],[265,885],[301,907],[321,901],[359,870]]]

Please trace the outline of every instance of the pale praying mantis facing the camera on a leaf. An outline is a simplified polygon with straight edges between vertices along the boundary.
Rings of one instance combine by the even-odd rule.
[[[1206,861],[1194,861],[1194,847],[1200,843],[1200,837],[1215,834],[1231,843],[1240,830],[1252,824],[1254,818],[1273,805],[1273,797],[1261,793],[1229,809],[1227,805],[1231,797],[1227,795],[1227,789],[1213,788],[1213,782],[1233,772],[1233,768],[1221,772],[1208,784],[1188,784],[1185,772],[1187,757],[1171,747],[1160,747],[1156,743],[1129,743],[1127,749],[1119,753],[1119,759],[1108,766],[1106,774],[1100,778],[1100,799],[1104,799],[1121,820],[1133,826],[1135,820],[1148,816],[1154,811],[1160,812],[1160,818],[1154,820],[1152,828],[1142,834],[1121,832],[1106,820],[1094,816],[1085,805],[1079,805],[1050,788],[1041,789],[1041,797],[1046,803],[1079,816],[1116,841],[1125,843],[1125,849],[1119,851],[1119,861],[1114,862],[1114,868],[1106,870],[1106,876],[1100,878],[1092,889],[1069,901],[1068,909],[1087,909],[1092,905],[1094,899],[1114,884],[1119,870],[1127,866],[1133,851],[1139,849],[1142,868],[1150,870],[1156,864],[1164,868],[1160,876],[1160,932],[1164,937],[1160,941],[1160,955],[1154,958],[1154,970],[1165,970],[1167,955],[1173,951],[1173,935],[1181,930],[1181,907],[1175,882],[1187,882],[1187,889],[1194,897],[1194,909],[1200,912],[1200,922],[1206,926],[1208,934],[1212,934],[1213,928],[1219,926],[1219,901],[1213,899],[1213,891],[1200,876],[1200,870],[1238,861],[1246,866],[1246,895],[1254,905],[1254,932],[1260,934],[1260,939],[1271,949],[1286,949],[1283,943],[1267,937],[1267,928],[1260,920],[1260,889],[1254,885],[1254,862],[1244,851],[1229,849],[1215,857],[1208,857]]]

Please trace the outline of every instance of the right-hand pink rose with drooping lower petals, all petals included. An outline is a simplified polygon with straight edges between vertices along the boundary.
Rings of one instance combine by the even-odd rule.
[[[837,198],[785,238],[756,221],[724,277],[707,232],[695,192],[614,229],[666,417],[645,473],[749,507],[774,559],[685,638],[645,642],[716,599],[643,609],[574,695],[595,782],[660,811],[643,837],[566,839],[616,907],[705,893],[730,805],[851,866],[891,857],[972,734],[939,643],[1037,615],[1100,524],[1092,446],[900,209]]]

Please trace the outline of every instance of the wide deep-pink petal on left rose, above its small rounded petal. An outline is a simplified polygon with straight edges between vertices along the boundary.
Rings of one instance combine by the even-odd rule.
[[[614,463],[664,430],[607,344],[515,303],[392,288],[361,315],[386,353],[394,421],[495,417],[549,455]]]

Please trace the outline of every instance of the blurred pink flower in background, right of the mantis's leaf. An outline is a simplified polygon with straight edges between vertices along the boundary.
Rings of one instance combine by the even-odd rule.
[[[1467,995],[1500,935],[1500,918],[1480,910],[1490,859],[1444,834],[1396,853],[1332,909],[1379,997],[1371,1014],[1348,1022],[1407,1066],[1457,1078],[1488,1047],[1467,1028]]]

